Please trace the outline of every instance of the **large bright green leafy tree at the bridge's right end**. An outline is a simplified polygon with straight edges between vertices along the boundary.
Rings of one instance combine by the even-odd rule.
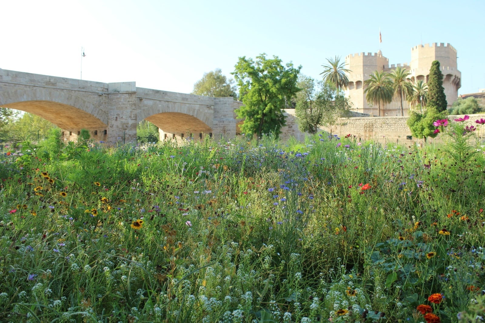
[[[277,56],[267,59],[266,54],[256,61],[240,57],[232,73],[239,86],[239,97],[244,104],[236,110],[238,118],[244,119],[241,131],[261,136],[273,132],[277,137],[285,125],[281,109],[298,92],[296,85],[301,66],[292,63],[282,65]]]

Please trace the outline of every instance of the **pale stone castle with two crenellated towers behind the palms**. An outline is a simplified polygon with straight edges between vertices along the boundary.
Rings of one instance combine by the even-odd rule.
[[[441,72],[443,73],[443,87],[445,89],[448,107],[451,107],[458,97],[458,89],[461,87],[461,72],[456,66],[456,49],[450,44],[433,43],[418,45],[411,48],[411,63],[390,65],[389,59],[382,55],[379,50],[377,53],[356,53],[345,57],[346,68],[351,72],[347,73],[349,78],[349,88],[346,95],[353,103],[354,111],[378,116],[377,106],[368,104],[365,98],[365,81],[368,80],[375,71],[385,71],[390,73],[397,66],[405,68],[409,72],[408,81],[415,83],[422,80],[428,82],[429,70],[433,61],[439,61]],[[401,103],[393,100],[391,103],[381,107],[381,116],[401,115]],[[409,114],[409,105],[403,100],[404,115]]]

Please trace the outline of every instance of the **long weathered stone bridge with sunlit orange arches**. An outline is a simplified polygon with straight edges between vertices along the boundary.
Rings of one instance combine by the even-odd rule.
[[[37,114],[74,140],[81,129],[110,144],[136,140],[136,125],[148,120],[160,139],[189,135],[236,136],[232,97],[202,97],[136,87],[0,69],[0,107]]]

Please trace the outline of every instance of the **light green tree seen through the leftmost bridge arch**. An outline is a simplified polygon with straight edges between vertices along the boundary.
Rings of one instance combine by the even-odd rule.
[[[48,120],[33,113],[24,113],[11,123],[8,134],[10,138],[36,143],[46,138],[53,128],[56,128],[56,126]]]

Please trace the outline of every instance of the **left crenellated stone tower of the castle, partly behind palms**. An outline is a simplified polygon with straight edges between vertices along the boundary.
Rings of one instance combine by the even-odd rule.
[[[345,57],[345,68],[351,72],[347,75],[349,78],[349,88],[346,95],[353,102],[353,108],[359,113],[373,113],[377,116],[377,107],[370,107],[367,104],[364,94],[364,81],[368,80],[370,75],[377,71],[383,71],[389,66],[388,58],[382,56],[379,50],[377,53],[356,53]]]

